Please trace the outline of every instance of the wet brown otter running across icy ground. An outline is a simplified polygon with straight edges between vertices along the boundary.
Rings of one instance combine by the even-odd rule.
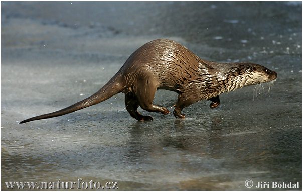
[[[182,109],[200,100],[210,100],[211,108],[220,104],[219,95],[248,85],[275,80],[277,73],[254,63],[218,63],[200,59],[185,46],[168,39],[150,41],[126,60],[121,69],[100,90],[67,108],[21,121],[47,119],[103,102],[115,94],[125,94],[125,106],[138,121],[151,121],[137,108],[148,112],[169,114],[170,111],[153,104],[156,90],[177,92],[174,116],[185,118]]]

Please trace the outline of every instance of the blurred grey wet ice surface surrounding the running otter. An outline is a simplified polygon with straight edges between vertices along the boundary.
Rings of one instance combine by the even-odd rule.
[[[152,113],[153,122],[136,122],[118,94],[18,124],[88,97],[158,38],[205,60],[262,64],[278,78],[270,91],[223,94],[216,109],[194,104],[185,120]],[[247,190],[247,179],[302,189],[301,2],[1,2],[1,39],[2,190],[6,181],[78,178],[120,190]],[[161,90],[155,103],[172,112],[176,99]]]

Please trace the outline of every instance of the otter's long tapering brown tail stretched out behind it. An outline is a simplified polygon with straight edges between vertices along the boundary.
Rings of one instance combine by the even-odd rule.
[[[36,117],[32,117],[26,120],[21,121],[20,123],[26,123],[29,121],[35,121],[39,119],[47,119],[52,117],[57,117],[61,115],[65,115],[68,113],[72,113],[77,110],[81,110],[83,108],[98,104],[100,102],[103,102],[109,98],[111,98],[113,95],[122,92],[122,90],[125,88],[122,86],[123,83],[121,83],[121,76],[115,75],[108,83],[106,83],[100,90],[98,90],[96,93],[91,95],[90,97],[75,103],[74,105],[71,105],[67,108],[64,108],[59,111],[55,111],[52,113],[39,115]]]

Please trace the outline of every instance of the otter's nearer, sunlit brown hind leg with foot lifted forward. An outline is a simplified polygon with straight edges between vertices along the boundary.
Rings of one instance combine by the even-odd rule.
[[[153,100],[157,90],[155,81],[147,79],[147,81],[138,81],[137,89],[135,90],[140,107],[148,112],[161,112],[169,114],[170,111],[159,105],[154,105]]]

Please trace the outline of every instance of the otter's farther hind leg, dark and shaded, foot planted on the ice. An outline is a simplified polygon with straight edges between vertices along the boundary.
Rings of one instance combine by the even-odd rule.
[[[151,121],[153,120],[150,116],[141,115],[137,109],[139,107],[139,102],[137,100],[136,95],[133,92],[125,93],[125,106],[126,110],[130,114],[131,117],[135,118],[138,121]]]

